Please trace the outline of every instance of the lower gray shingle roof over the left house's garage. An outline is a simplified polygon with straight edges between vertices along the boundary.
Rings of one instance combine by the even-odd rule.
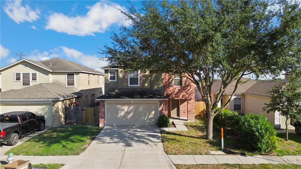
[[[0,92],[0,100],[4,99],[53,99],[60,100],[82,94],[56,83],[40,83],[17,90]]]

